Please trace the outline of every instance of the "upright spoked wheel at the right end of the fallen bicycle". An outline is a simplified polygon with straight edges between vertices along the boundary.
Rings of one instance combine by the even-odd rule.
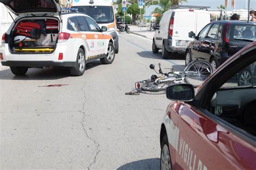
[[[212,74],[213,68],[210,62],[193,61],[184,70],[185,82],[193,86],[199,86],[205,79]]]

